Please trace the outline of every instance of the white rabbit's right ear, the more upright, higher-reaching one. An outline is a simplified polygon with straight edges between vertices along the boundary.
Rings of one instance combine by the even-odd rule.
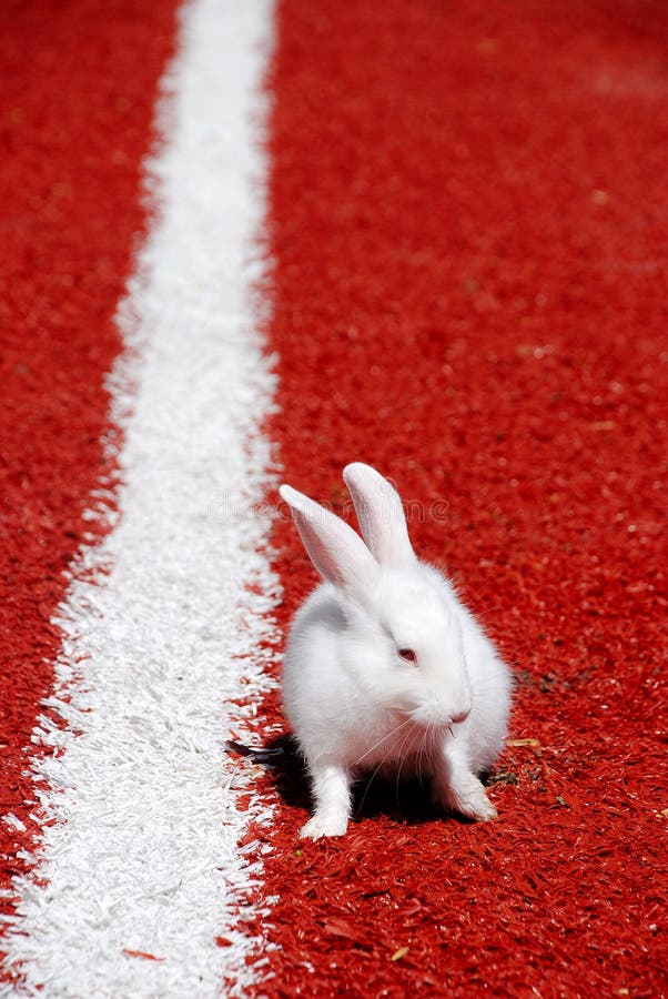
[[[403,566],[416,561],[399,494],[386,478],[362,462],[343,470],[364,541],[381,565]]]

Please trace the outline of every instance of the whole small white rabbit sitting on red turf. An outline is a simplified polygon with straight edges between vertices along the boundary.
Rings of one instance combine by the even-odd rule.
[[[342,836],[352,783],[378,768],[419,766],[439,806],[492,819],[478,775],[504,745],[509,670],[448,581],[418,561],[392,485],[360,462],[343,476],[364,541],[280,491],[325,581],[295,615],[283,662],[283,704],[315,797],[301,835]]]

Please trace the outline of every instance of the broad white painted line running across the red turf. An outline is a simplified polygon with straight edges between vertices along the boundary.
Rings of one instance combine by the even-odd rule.
[[[29,995],[181,999],[219,993],[223,975],[243,990],[251,973],[235,909],[261,872],[236,844],[267,816],[237,811],[246,778],[223,743],[231,698],[269,683],[261,654],[239,656],[266,637],[276,599],[259,554],[267,524],[250,513],[267,484],[259,427],[273,392],[250,304],[272,28],[272,0],[182,12],[150,164],[158,218],[119,313],[121,517],[82,557],[111,572],[71,585],[49,700],[68,727],[42,718],[36,736],[61,751],[36,761],[55,820],[37,868],[47,884],[17,882],[8,940]]]

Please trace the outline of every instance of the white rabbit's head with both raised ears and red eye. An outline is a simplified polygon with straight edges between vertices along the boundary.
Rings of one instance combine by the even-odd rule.
[[[415,555],[391,483],[358,462],[346,466],[344,480],[364,541],[331,511],[281,487],[311,561],[333,588],[328,610],[324,594],[311,619],[302,619],[296,655],[314,655],[310,633],[326,627],[330,613],[337,640],[327,644],[323,689],[332,680],[327,670],[346,674],[358,724],[386,710],[423,728],[459,725],[470,714],[473,690],[456,597]]]

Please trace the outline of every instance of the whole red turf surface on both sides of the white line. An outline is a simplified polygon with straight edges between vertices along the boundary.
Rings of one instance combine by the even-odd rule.
[[[28,826],[0,833],[6,886],[39,839],[23,747],[49,620],[112,474],[111,316],[173,44],[171,4],[132,10],[2,14],[0,800]],[[257,995],[668,987],[667,39],[650,0],[277,7],[266,433],[335,508],[357,458],[425,504],[416,547],[518,687],[493,825],[374,785],[345,839],[304,844],[290,751],[259,778],[277,805],[249,845],[275,900],[247,929],[280,949],[259,945]],[[285,627],[314,581],[285,518],[272,541]]]

